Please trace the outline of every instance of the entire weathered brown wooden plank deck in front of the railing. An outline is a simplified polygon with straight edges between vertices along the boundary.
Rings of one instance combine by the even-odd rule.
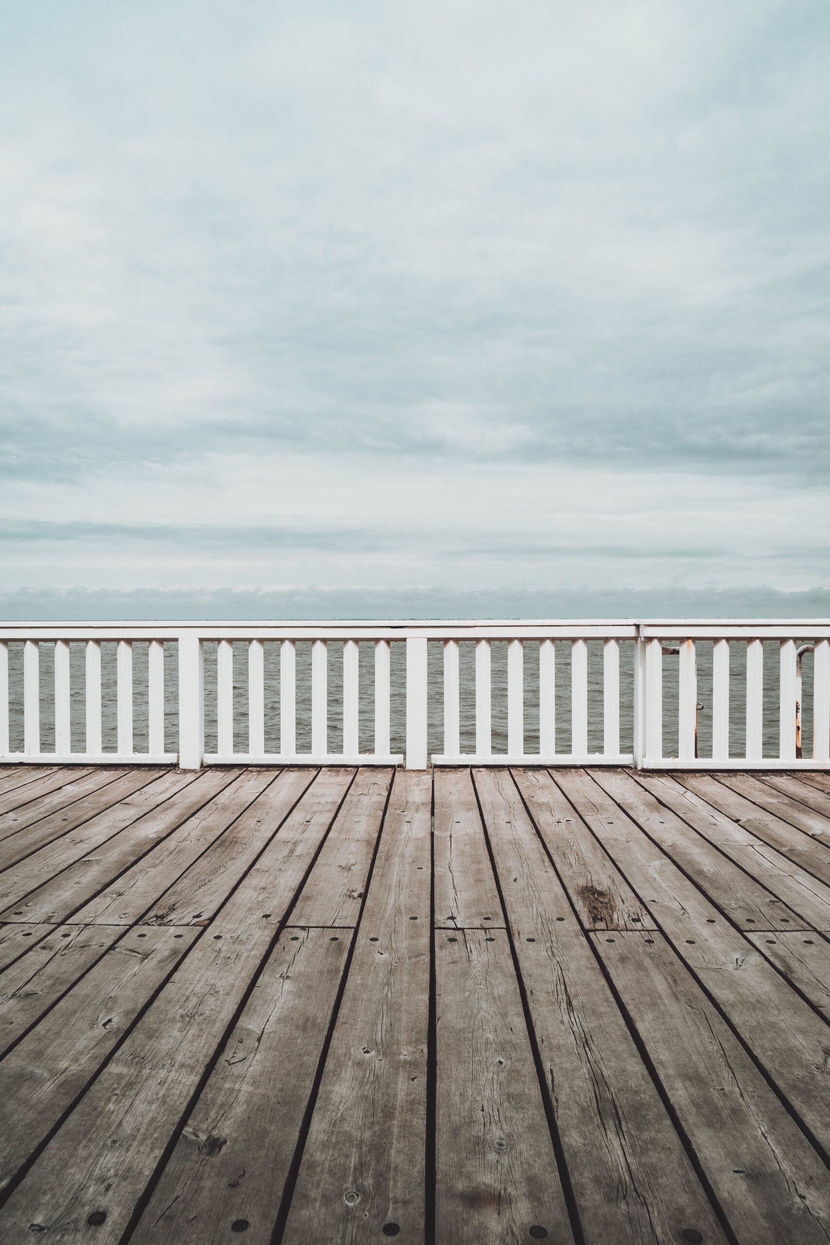
[[[830,779],[0,773],[0,1241],[826,1243]]]

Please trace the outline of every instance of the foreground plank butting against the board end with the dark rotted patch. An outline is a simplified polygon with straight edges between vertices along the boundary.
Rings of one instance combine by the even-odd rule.
[[[825,1243],[821,1158],[662,935],[594,937],[735,1239]]]

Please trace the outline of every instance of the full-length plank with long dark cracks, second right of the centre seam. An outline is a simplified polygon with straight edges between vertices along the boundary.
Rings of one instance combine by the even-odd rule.
[[[722,1240],[576,919],[551,919],[535,888],[506,883],[530,881],[543,858],[518,792],[504,771],[477,772],[477,786],[585,1241],[656,1245],[689,1226]],[[566,911],[557,883],[556,891]]]

